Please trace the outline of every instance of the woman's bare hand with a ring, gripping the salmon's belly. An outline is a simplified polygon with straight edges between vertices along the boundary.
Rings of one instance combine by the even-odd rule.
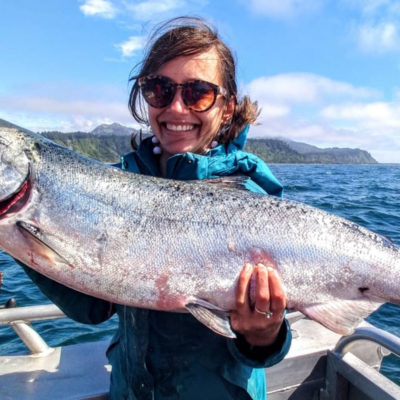
[[[252,279],[254,296],[250,296]],[[231,313],[233,330],[252,346],[272,345],[281,328],[285,307],[285,291],[278,273],[262,264],[255,267],[246,264],[239,276],[236,310]]]

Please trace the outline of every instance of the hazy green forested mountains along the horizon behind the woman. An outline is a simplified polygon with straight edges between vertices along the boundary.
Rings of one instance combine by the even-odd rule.
[[[10,126],[10,123],[0,119],[0,126]],[[118,162],[121,154],[132,151],[131,138],[132,134],[135,133],[138,133],[138,131],[133,128],[113,123],[100,125],[92,132],[62,133],[52,131],[42,132],[42,135],[88,157],[103,162]],[[134,140],[136,144],[138,138],[139,135]],[[246,144],[246,151],[256,154],[267,163],[377,163],[365,150],[337,147],[322,149],[285,138],[249,139]]]

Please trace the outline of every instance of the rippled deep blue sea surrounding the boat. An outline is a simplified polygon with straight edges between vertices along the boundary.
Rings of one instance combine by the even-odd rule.
[[[400,246],[400,164],[377,165],[271,165],[285,187],[285,197],[350,219],[391,238]],[[0,304],[14,298],[19,306],[48,303],[22,268],[0,252],[3,284]],[[400,290],[400,288],[399,288]],[[369,317],[372,324],[400,337],[400,308],[384,305]],[[110,338],[116,320],[99,326],[69,319],[35,322],[33,326],[51,346]],[[0,354],[26,352],[9,327],[0,326]],[[382,372],[400,384],[400,360],[385,358]]]

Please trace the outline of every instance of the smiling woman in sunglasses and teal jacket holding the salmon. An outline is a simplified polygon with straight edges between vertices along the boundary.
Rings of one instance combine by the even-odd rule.
[[[232,54],[202,20],[179,18],[161,27],[132,81],[132,115],[149,123],[154,136],[122,157],[120,168],[183,180],[246,175],[249,190],[281,195],[268,167],[242,151],[257,105],[237,101]],[[118,313],[108,350],[111,399],[265,399],[263,368],[290,346],[280,278],[261,264],[245,265],[239,276],[231,314],[235,340],[189,314],[110,304],[27,272],[77,321],[99,323]],[[249,300],[252,276],[255,304]]]

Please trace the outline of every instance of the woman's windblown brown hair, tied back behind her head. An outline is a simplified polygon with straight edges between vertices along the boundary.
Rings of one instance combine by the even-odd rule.
[[[233,117],[220,132],[218,140],[227,143],[233,140],[248,124],[254,123],[259,115],[257,102],[251,102],[245,96],[237,100],[236,63],[228,46],[219,38],[217,31],[201,18],[178,17],[155,29],[150,36],[144,60],[136,66],[139,73],[129,79],[133,81],[129,95],[129,109],[133,118],[139,123],[148,124],[146,107],[140,96],[138,79],[155,73],[168,61],[215,48],[221,60],[223,87],[228,91],[227,101],[233,96],[236,99]]]

